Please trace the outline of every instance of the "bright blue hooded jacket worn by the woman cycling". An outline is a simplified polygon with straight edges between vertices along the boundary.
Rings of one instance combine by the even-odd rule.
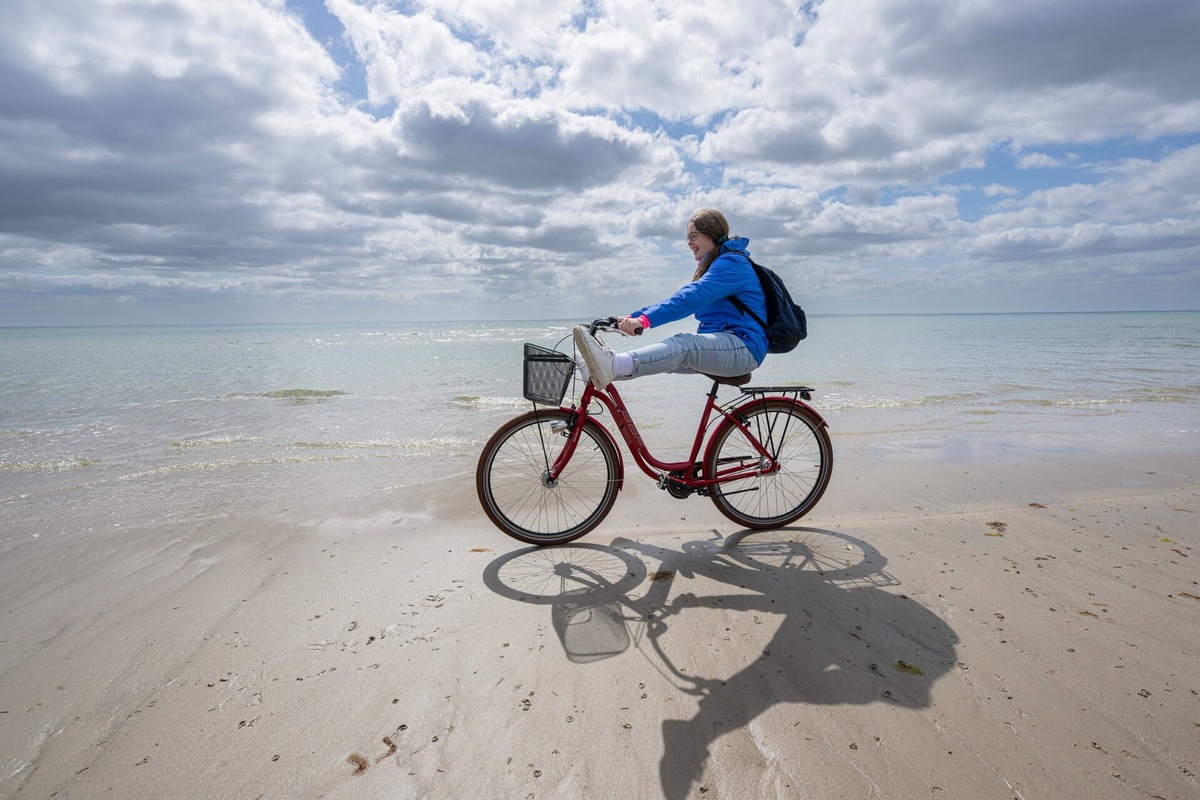
[[[698,333],[728,331],[736,335],[758,363],[767,356],[767,335],[749,314],[743,314],[728,297],[737,295],[760,319],[767,319],[767,299],[762,295],[758,276],[750,266],[746,252],[749,239],[730,239],[721,245],[721,253],[708,271],[680,288],[673,295],[638,308],[630,317],[646,314],[650,326],[666,325],[685,317],[696,317]]]

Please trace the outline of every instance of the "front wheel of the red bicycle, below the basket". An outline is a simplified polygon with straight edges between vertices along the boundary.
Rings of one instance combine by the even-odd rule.
[[[562,409],[529,411],[502,426],[484,446],[475,469],[479,503],[509,536],[530,545],[570,542],[599,525],[617,501],[620,461],[593,420],[584,420],[570,463],[550,480],[571,419]]]

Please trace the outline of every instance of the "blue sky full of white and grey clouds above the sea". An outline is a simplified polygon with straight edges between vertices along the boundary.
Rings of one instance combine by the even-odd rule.
[[[0,326],[1200,308],[1195,0],[0,8]]]

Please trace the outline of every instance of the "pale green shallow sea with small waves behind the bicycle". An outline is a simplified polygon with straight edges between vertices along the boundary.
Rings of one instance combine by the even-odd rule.
[[[0,539],[271,513],[448,477],[474,503],[480,449],[532,408],[522,343],[570,351],[570,325],[0,329]],[[755,383],[814,387],[839,470],[1188,449],[1200,313],[814,317]],[[650,446],[684,457],[709,385],[658,375],[620,390]]]

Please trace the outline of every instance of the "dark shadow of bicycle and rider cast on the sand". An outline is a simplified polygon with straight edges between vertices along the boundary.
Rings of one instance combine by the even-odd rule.
[[[646,558],[658,560],[658,570],[649,572]],[[776,704],[930,705],[934,682],[956,662],[958,637],[894,591],[899,582],[886,565],[862,540],[792,528],[745,530],[677,551],[630,540],[530,548],[488,565],[485,583],[503,596],[551,606],[574,662],[617,656],[644,636],[674,679],[694,686],[685,691],[700,696],[696,714],[662,722],[660,780],[664,796],[676,799],[688,796],[721,735]],[[646,593],[635,596],[647,579]],[[698,591],[673,593],[684,581]],[[775,615],[780,622],[761,652],[746,654],[740,670],[686,675],[660,639],[671,616],[698,609],[722,609],[721,619],[732,620],[713,631],[709,644],[738,628],[743,614]]]

